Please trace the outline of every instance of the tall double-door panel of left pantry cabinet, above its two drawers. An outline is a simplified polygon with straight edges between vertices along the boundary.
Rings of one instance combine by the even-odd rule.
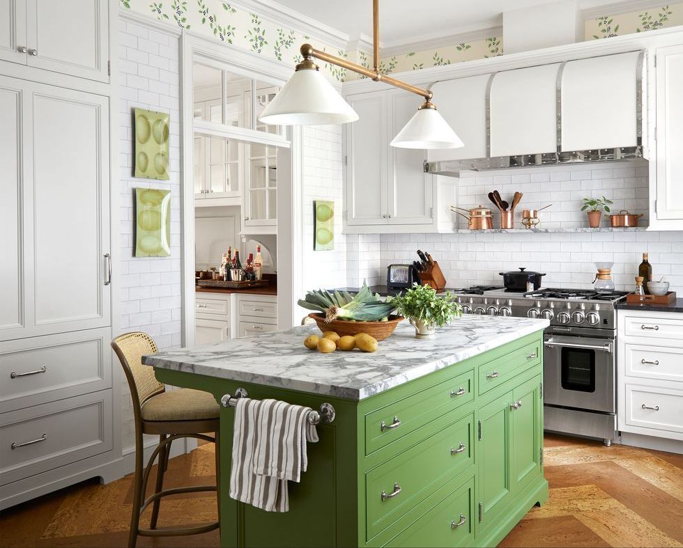
[[[0,77],[0,340],[111,325],[108,102]]]

